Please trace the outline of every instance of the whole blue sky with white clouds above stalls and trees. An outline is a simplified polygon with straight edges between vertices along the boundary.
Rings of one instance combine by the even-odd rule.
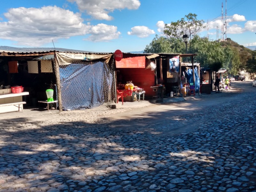
[[[55,47],[82,51],[142,51],[162,34],[164,24],[188,13],[197,14],[208,26],[200,36],[209,34],[216,40],[216,26],[222,37],[222,3],[225,20],[225,0],[1,1],[0,45],[53,47],[53,41]],[[228,38],[244,46],[256,45],[255,7],[255,0],[227,0]]]

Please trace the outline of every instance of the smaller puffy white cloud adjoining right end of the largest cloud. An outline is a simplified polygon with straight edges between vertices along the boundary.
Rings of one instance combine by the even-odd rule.
[[[86,39],[89,41],[109,41],[111,39],[117,39],[121,34],[117,31],[116,26],[106,25],[103,23],[92,26],[89,33],[92,34]]]

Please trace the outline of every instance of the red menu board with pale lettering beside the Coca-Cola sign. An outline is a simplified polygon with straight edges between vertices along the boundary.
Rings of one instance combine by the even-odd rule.
[[[116,68],[145,68],[145,56],[123,58],[116,61]]]

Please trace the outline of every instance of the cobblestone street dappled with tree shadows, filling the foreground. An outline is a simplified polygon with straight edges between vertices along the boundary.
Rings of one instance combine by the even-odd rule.
[[[0,120],[0,192],[256,191],[256,88],[241,85],[126,119],[129,108]],[[179,105],[198,107],[166,109]]]

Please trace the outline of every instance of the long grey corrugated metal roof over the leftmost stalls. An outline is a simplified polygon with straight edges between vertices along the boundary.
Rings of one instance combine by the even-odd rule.
[[[66,53],[93,53],[93,54],[110,54],[109,52],[90,52],[90,51],[81,51],[73,49],[64,49],[64,48],[47,48],[47,47],[9,47],[9,46],[0,46],[0,52],[6,53],[35,53],[35,52],[66,52]]]

